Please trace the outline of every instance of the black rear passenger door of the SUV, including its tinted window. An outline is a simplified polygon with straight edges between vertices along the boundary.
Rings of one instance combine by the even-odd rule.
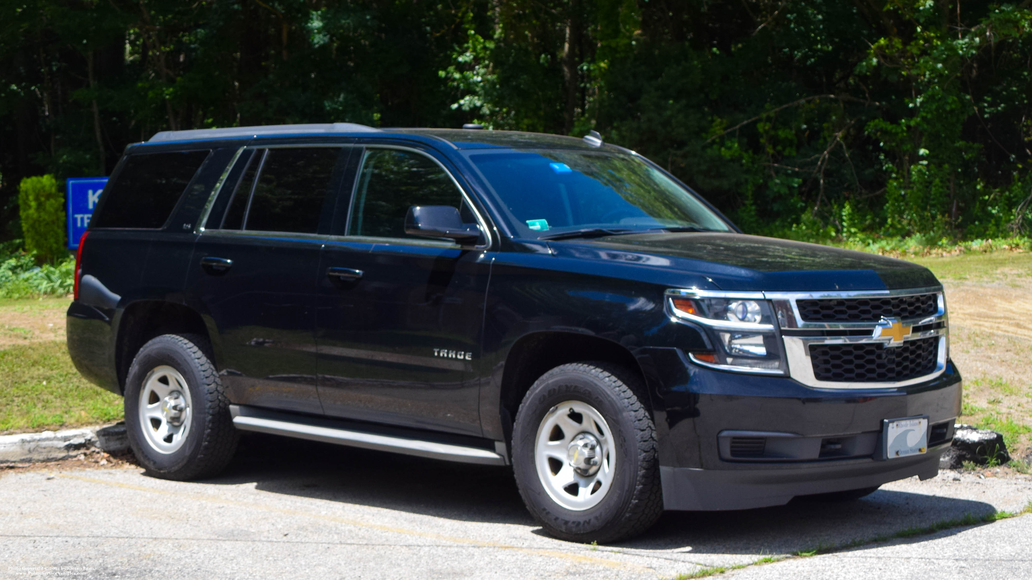
[[[195,245],[187,292],[217,336],[233,402],[322,413],[314,300],[348,151],[246,150]]]

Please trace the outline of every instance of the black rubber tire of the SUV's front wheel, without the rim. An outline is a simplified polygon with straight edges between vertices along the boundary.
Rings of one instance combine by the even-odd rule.
[[[573,542],[614,542],[645,531],[663,514],[655,428],[646,396],[635,373],[607,362],[556,366],[527,391],[513,428],[513,471],[523,503],[549,534]],[[567,509],[549,495],[535,459],[542,421],[568,400],[598,410],[612,431],[616,454],[606,495],[580,511]]]

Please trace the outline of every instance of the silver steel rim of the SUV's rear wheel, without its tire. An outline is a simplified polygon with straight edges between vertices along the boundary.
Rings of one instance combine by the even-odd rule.
[[[139,426],[152,449],[174,453],[190,432],[190,389],[179,370],[162,364],[143,379],[139,390]]]

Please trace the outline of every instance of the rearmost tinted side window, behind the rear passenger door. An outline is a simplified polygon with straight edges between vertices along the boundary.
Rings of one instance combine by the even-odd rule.
[[[130,155],[118,179],[107,186],[103,211],[91,225],[151,229],[164,226],[208,153],[204,150]]]

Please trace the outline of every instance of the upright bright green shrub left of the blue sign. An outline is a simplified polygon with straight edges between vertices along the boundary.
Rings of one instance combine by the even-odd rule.
[[[64,197],[54,175],[22,180],[18,203],[26,252],[34,255],[39,264],[67,257]]]

